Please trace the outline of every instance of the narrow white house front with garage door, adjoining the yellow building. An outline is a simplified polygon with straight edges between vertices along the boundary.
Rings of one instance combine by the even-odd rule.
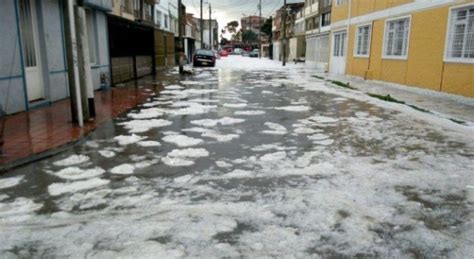
[[[305,0],[306,63],[327,70],[332,0]]]

